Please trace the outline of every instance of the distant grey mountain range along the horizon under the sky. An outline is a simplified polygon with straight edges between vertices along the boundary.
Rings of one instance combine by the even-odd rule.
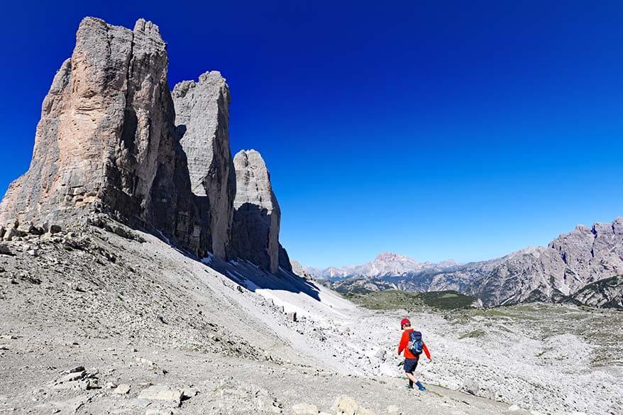
[[[579,225],[546,247],[481,262],[418,262],[382,253],[363,265],[306,270],[343,293],[451,289],[484,306],[551,301],[623,309],[623,218]]]

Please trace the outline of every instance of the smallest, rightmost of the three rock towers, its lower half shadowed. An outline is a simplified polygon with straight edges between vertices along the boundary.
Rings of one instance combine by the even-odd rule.
[[[255,150],[241,150],[233,158],[233,165],[236,199],[233,201],[231,256],[276,272],[280,257],[281,211],[272,192],[268,169]],[[285,262],[285,258],[282,261]]]

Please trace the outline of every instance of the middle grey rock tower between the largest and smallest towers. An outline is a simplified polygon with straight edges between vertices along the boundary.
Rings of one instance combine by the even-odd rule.
[[[220,72],[184,81],[172,92],[177,134],[188,160],[192,192],[209,226],[209,247],[226,258],[236,193],[229,150],[229,88]]]

